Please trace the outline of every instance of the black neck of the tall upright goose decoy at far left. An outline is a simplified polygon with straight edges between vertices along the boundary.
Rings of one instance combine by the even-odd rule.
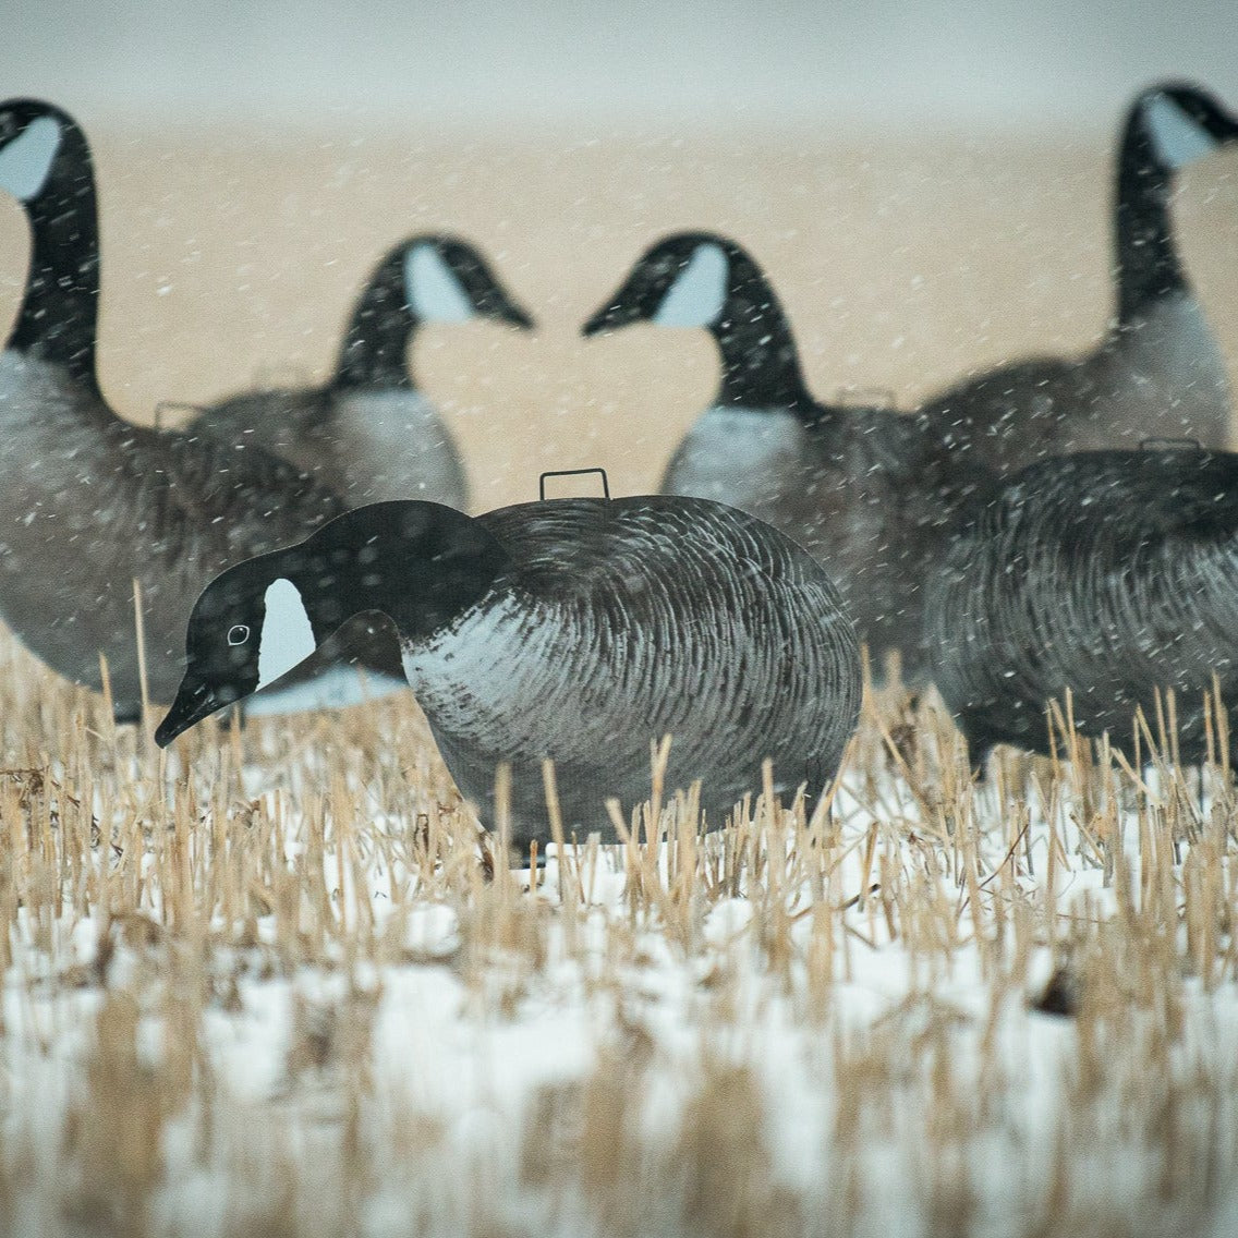
[[[59,145],[40,193],[22,206],[30,220],[30,275],[7,347],[63,366],[97,389],[99,218],[85,135],[63,113]]]

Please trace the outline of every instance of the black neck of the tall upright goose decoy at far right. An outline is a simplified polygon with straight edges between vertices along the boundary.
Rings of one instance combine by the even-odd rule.
[[[1119,326],[1188,287],[1174,244],[1172,192],[1174,172],[1156,154],[1144,109],[1136,105],[1123,134],[1114,194]]]

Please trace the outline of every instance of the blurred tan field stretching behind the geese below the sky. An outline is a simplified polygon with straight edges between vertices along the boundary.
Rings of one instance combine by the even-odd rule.
[[[910,409],[976,368],[1076,352],[1110,308],[1110,134],[979,141],[790,130],[591,141],[331,121],[265,137],[78,120],[95,152],[100,376],[116,410],[329,373],[353,298],[401,236],[477,243],[532,334],[430,327],[411,364],[464,451],[478,510],[537,473],[656,487],[717,373],[703,332],[577,327],[664,233],[711,228],[769,272],[822,399]],[[1238,152],[1181,177],[1180,245],[1238,386]],[[0,321],[25,280],[0,203]]]

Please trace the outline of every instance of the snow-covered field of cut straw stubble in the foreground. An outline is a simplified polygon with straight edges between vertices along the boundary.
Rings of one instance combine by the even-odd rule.
[[[167,755],[0,656],[0,1233],[1238,1232],[1219,773],[880,699],[828,817],[509,872],[406,697]]]

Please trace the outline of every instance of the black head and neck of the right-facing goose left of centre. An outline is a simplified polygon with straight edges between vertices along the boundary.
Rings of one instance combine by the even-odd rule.
[[[468,241],[443,234],[402,240],[383,256],[357,301],[337,385],[409,385],[405,358],[416,329],[475,318],[522,331],[535,326]]]

